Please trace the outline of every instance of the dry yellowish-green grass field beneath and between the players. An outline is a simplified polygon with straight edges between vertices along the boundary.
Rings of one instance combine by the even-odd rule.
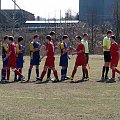
[[[75,57],[71,57],[68,75],[71,75],[74,61]],[[60,74],[58,64],[56,56],[56,68]],[[40,71],[43,65],[44,60]],[[102,56],[90,56],[90,65],[90,80],[87,82],[0,84],[0,120],[120,120],[120,82],[96,82],[101,77]],[[23,70],[26,77],[28,67],[29,58],[26,57]],[[81,68],[75,80],[80,78]],[[31,76],[33,80],[35,69]]]

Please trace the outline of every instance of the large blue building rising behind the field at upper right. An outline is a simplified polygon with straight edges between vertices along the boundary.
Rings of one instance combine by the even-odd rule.
[[[79,0],[79,20],[89,24],[112,21],[115,1],[116,0]]]

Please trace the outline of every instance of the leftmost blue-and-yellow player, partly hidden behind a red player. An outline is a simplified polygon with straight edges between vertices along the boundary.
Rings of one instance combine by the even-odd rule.
[[[8,53],[8,40],[9,40],[9,36],[5,36],[4,41],[2,43],[2,61],[3,61],[3,68],[1,70],[1,82],[2,83],[6,82],[8,59],[4,61],[4,58],[6,57]]]

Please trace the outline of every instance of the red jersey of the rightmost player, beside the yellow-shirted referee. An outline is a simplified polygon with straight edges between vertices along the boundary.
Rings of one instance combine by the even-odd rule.
[[[112,43],[110,47],[111,57],[119,57],[118,51],[119,51],[119,45],[116,42]]]

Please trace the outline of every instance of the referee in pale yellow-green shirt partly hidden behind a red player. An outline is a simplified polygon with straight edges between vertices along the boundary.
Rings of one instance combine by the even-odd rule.
[[[89,46],[88,46],[88,34],[87,34],[87,33],[84,33],[83,39],[81,40],[81,42],[82,42],[82,44],[83,44],[84,47],[85,47],[86,66],[87,66],[88,61],[89,61]],[[86,76],[85,76],[85,71],[84,71],[84,69],[82,69],[82,71],[83,71],[82,80],[86,80]]]

